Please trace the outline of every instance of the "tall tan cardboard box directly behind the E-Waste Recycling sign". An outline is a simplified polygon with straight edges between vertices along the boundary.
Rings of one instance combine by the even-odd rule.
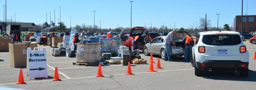
[[[9,43],[9,65],[12,67],[27,66],[27,48],[37,47],[36,42]]]

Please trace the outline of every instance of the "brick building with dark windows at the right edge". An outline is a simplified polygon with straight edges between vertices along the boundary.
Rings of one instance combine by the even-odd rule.
[[[241,15],[234,18],[234,31],[241,31]],[[256,15],[243,16],[243,32],[256,31]]]

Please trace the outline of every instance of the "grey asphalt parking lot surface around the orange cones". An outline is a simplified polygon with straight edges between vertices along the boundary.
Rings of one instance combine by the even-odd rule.
[[[72,62],[76,58],[53,57],[51,47],[46,47],[48,78],[29,80],[26,76],[26,67],[23,69],[26,84],[16,84],[20,68],[9,66],[9,52],[0,52],[0,89],[1,87],[15,87],[25,89],[255,89],[256,60],[252,60],[256,51],[255,45],[244,41],[250,54],[249,75],[247,77],[236,76],[235,72],[204,72],[198,77],[194,74],[194,67],[190,63],[183,62],[184,58],[174,56],[174,62],[160,59],[163,69],[155,69],[156,72],[147,72],[150,64],[131,65],[134,75],[125,75],[127,66],[102,65],[102,73],[105,77],[95,77],[98,71],[96,66],[77,66]],[[141,58],[149,60],[150,56],[140,54]],[[154,62],[160,56],[153,55]],[[216,57],[218,58],[218,57]],[[54,67],[57,66],[61,81],[52,81]],[[154,63],[156,67],[156,63]]]

